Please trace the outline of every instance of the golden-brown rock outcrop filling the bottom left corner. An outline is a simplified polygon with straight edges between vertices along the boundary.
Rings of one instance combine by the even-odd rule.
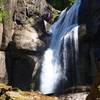
[[[39,92],[21,91],[5,84],[0,84],[0,100],[59,100],[56,96],[46,96]]]

